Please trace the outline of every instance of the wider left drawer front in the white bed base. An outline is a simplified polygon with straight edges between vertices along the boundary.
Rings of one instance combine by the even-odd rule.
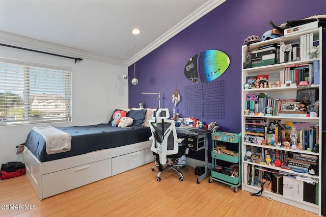
[[[43,197],[47,198],[112,175],[111,158],[42,175]]]

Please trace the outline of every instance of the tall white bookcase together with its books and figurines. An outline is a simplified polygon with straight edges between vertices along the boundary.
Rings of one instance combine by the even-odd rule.
[[[309,59],[313,45],[319,56]],[[241,189],[257,193],[266,181],[262,196],[319,215],[321,53],[321,28],[242,46],[241,91]],[[265,55],[275,59],[256,63]]]

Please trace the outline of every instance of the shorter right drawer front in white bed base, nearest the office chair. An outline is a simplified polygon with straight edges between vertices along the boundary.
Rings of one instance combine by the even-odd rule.
[[[123,173],[136,167],[148,164],[153,161],[153,154],[150,149],[132,152],[112,158],[112,175]]]

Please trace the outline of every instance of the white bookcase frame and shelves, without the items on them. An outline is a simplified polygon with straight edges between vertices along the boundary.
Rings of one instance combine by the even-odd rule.
[[[291,117],[291,116],[257,116],[256,114],[245,114],[246,110],[246,100],[247,100],[247,94],[259,94],[259,93],[267,93],[269,97],[271,98],[278,98],[278,99],[295,99],[296,98],[296,91],[297,90],[307,90],[307,87],[297,87],[297,86],[287,86],[287,87],[270,87],[270,88],[258,88],[258,89],[244,89],[244,84],[247,83],[247,77],[252,76],[255,77],[257,75],[268,75],[268,74],[275,74],[277,72],[280,72],[281,70],[284,70],[285,67],[287,66],[292,66],[292,65],[303,65],[303,64],[312,64],[314,60],[311,59],[305,59],[304,60],[296,60],[292,62],[286,62],[286,63],[279,63],[279,64],[273,64],[273,65],[267,65],[267,66],[260,66],[260,67],[254,67],[254,68],[244,68],[244,62],[248,63],[248,46],[243,45],[242,46],[242,90],[241,90],[241,134],[242,134],[242,141],[241,141],[241,152],[242,157],[241,157],[241,182],[242,186],[241,189],[243,191],[248,191],[251,193],[257,193],[260,191],[261,187],[260,185],[254,186],[252,184],[248,184],[248,165],[254,166],[254,167],[260,167],[265,170],[269,171],[275,171],[276,173],[286,173],[289,174],[293,177],[300,176],[300,177],[305,177],[305,178],[311,178],[314,180],[317,180],[318,183],[318,190],[316,191],[316,194],[318,194],[318,199],[316,200],[317,203],[312,203],[312,202],[307,202],[302,199],[298,198],[289,198],[285,197],[283,195],[279,195],[273,192],[268,192],[268,191],[263,191],[262,197],[269,197],[273,200],[280,201],[301,209],[305,209],[314,213],[317,213],[318,215],[321,215],[321,138],[322,138],[322,126],[321,126],[321,111],[322,111],[322,37],[321,37],[321,28],[317,29],[312,29],[312,30],[307,30],[304,32],[297,32],[293,33],[290,35],[282,36],[280,38],[276,39],[270,39],[262,42],[257,42],[250,44],[249,48],[250,50],[254,50],[262,45],[265,44],[273,44],[273,43],[285,43],[285,44],[300,44],[300,37],[301,35],[306,35],[312,33],[313,35],[313,41],[319,41],[319,84],[311,84],[309,89],[316,89],[319,91],[319,116],[318,117]],[[301,45],[302,46],[302,45]],[[309,50],[308,50],[309,51]],[[307,52],[308,52],[307,51]],[[281,86],[281,84],[280,84]],[[280,122],[284,125],[286,122],[304,122],[304,123],[309,123],[311,125],[318,125],[319,129],[316,133],[319,134],[319,139],[316,141],[316,143],[319,144],[319,151],[317,153],[315,152],[310,152],[307,150],[293,150],[293,149],[287,149],[284,146],[281,147],[274,147],[274,146],[267,146],[267,145],[260,145],[255,142],[248,142],[246,141],[246,118],[251,117],[251,118],[258,118],[258,119],[265,119],[266,120],[266,126],[268,127],[268,122],[269,120],[280,120]],[[288,129],[288,131],[291,131],[291,129]],[[266,138],[267,139],[267,138]],[[268,142],[268,141],[267,141]],[[300,142],[300,141],[299,141]],[[248,160],[245,158],[246,151],[247,151],[247,146],[250,148],[262,148],[264,151],[265,149],[273,149],[277,152],[288,152],[288,153],[303,153],[303,154],[308,154],[312,156],[317,156],[318,158],[318,175],[310,175],[309,173],[297,173],[292,170],[288,169],[283,169],[281,167],[276,167],[273,165],[265,165],[263,162],[255,162],[252,160]],[[246,174],[247,173],[247,174]]]

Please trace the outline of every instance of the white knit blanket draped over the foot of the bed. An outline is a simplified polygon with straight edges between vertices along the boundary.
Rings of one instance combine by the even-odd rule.
[[[48,124],[34,126],[32,129],[44,138],[47,154],[70,151],[71,135],[69,133]]]

